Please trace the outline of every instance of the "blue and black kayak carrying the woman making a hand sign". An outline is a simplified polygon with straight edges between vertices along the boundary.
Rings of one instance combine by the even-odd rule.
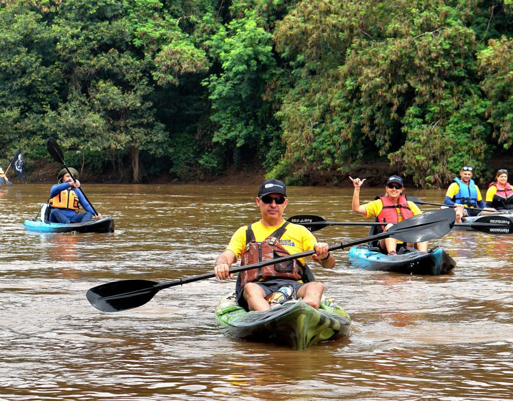
[[[376,247],[352,246],[349,260],[364,269],[432,276],[447,274],[456,267],[456,262],[439,246],[428,251],[407,250],[401,255],[385,255]]]

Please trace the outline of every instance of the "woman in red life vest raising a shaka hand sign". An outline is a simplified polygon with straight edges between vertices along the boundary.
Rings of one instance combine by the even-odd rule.
[[[352,211],[364,215],[364,217],[374,216],[376,220],[388,223],[381,226],[387,231],[393,223],[399,223],[409,217],[420,215],[422,212],[419,207],[406,199],[404,195],[403,179],[399,176],[391,176],[385,186],[385,196],[377,196],[376,200],[360,205],[360,187],[366,180],[359,178],[351,178],[354,185],[354,193],[352,199]],[[404,245],[403,242],[395,238],[381,239],[379,249],[382,253],[388,255],[396,255],[397,251]],[[407,243],[406,246],[416,247],[419,251],[427,251],[428,242],[417,242],[415,244]]]

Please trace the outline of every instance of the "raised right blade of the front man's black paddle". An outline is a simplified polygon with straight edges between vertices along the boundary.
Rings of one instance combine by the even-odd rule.
[[[422,242],[442,237],[455,223],[454,209],[439,209],[410,217],[390,227],[387,233],[404,242]]]

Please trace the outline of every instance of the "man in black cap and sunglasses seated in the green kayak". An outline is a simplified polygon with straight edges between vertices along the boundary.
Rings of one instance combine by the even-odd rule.
[[[327,243],[317,242],[307,228],[282,218],[288,204],[283,182],[264,181],[255,202],[260,207],[262,219],[240,227],[233,234],[226,250],[215,261],[216,277],[221,280],[233,278],[229,269],[238,258],[241,258],[241,265],[248,265],[309,250],[315,251],[314,262],[323,268],[333,268],[335,259],[328,251]],[[319,308],[324,284],[313,281],[305,258],[242,272],[237,278],[235,294],[239,305],[246,310],[266,311],[271,308],[267,299],[284,287],[292,287],[298,298]]]

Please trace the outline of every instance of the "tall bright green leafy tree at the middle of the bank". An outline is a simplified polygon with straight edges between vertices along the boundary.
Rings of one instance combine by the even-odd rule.
[[[273,53],[270,24],[272,12],[283,6],[275,5],[269,9],[267,1],[233,3],[230,13],[235,17],[207,42],[212,59],[221,67],[219,74],[204,81],[216,130],[212,151],[201,162],[211,169],[223,167],[220,163],[225,161],[252,161],[255,153],[257,160],[270,166],[283,150],[267,88],[282,73]]]

